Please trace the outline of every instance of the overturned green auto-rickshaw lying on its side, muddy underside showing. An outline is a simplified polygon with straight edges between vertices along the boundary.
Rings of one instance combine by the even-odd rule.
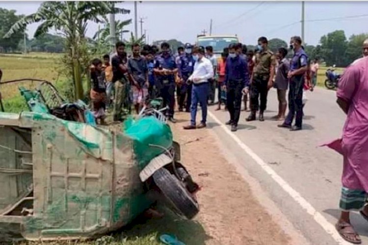
[[[7,113],[0,94],[0,240],[91,238],[116,230],[160,196],[184,219],[198,185],[180,163],[169,125],[154,116],[98,127],[87,106],[47,81],[19,88],[29,111]],[[151,195],[153,194],[153,195]]]

